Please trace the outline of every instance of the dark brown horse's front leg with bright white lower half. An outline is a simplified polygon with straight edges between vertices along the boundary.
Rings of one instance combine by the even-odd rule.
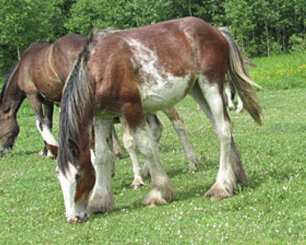
[[[58,145],[57,140],[53,136],[51,129],[52,128],[52,117],[49,117],[50,113],[53,114],[53,103],[52,105],[45,106],[45,112],[48,115],[48,119],[45,119],[42,111],[42,103],[38,94],[27,94],[30,105],[36,116],[36,127],[40,132],[43,140],[51,145]],[[51,120],[51,122],[49,122]],[[51,125],[50,125],[51,124]],[[45,146],[46,147],[46,146]],[[44,150],[42,150],[44,153]],[[47,152],[46,152],[47,153]],[[44,154],[43,154],[44,155]],[[47,154],[46,154],[47,155]]]

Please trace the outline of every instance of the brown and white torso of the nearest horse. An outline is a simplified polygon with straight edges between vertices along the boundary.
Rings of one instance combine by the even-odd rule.
[[[199,74],[224,77],[228,46],[216,28],[188,17],[101,36],[89,54],[101,110],[119,110],[140,91],[144,110],[154,112],[180,101]]]

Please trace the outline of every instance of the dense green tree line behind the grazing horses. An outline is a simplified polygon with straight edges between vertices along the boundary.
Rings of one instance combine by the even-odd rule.
[[[305,0],[0,0],[0,75],[35,41],[196,16],[227,26],[248,57],[306,48]]]

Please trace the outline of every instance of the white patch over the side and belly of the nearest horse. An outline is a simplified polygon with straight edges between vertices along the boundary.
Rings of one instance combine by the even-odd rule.
[[[157,54],[135,39],[126,40],[133,51],[134,68],[140,66],[142,83],[139,85],[145,111],[168,108],[185,96],[191,74],[175,77],[159,63]]]

